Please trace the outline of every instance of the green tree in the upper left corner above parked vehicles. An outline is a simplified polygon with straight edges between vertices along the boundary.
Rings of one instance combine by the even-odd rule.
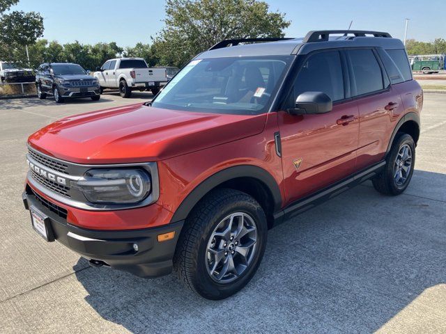
[[[26,45],[33,45],[43,35],[43,17],[36,12],[8,12],[18,2],[0,0],[0,58],[26,63],[23,51]]]

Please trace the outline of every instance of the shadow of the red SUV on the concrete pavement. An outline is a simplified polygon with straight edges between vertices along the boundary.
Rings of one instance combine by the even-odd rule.
[[[412,193],[446,187],[438,173],[417,170],[413,181]],[[256,276],[224,301],[201,299],[174,275],[76,275],[91,307],[132,333],[369,333],[446,282],[445,216],[443,200],[357,186],[270,230]]]

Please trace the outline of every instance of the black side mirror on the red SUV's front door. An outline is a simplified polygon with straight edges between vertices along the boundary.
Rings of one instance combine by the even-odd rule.
[[[295,107],[288,109],[291,115],[329,113],[333,109],[330,97],[322,92],[305,92],[295,100]]]

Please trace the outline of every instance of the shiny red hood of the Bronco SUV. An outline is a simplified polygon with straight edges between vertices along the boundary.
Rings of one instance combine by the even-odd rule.
[[[167,159],[253,136],[257,116],[157,109],[141,104],[58,120],[28,138],[31,147],[78,164],[120,164]]]

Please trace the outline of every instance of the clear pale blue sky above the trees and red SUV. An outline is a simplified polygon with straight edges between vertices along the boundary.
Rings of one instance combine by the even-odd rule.
[[[446,39],[445,0],[266,0],[271,11],[286,13],[291,25],[286,37],[310,30],[351,29],[387,31],[403,39]],[[162,26],[163,0],[20,0],[11,10],[37,11],[44,18],[43,38],[84,44],[115,41],[121,47],[150,43]],[[425,3],[425,4],[424,4]]]

